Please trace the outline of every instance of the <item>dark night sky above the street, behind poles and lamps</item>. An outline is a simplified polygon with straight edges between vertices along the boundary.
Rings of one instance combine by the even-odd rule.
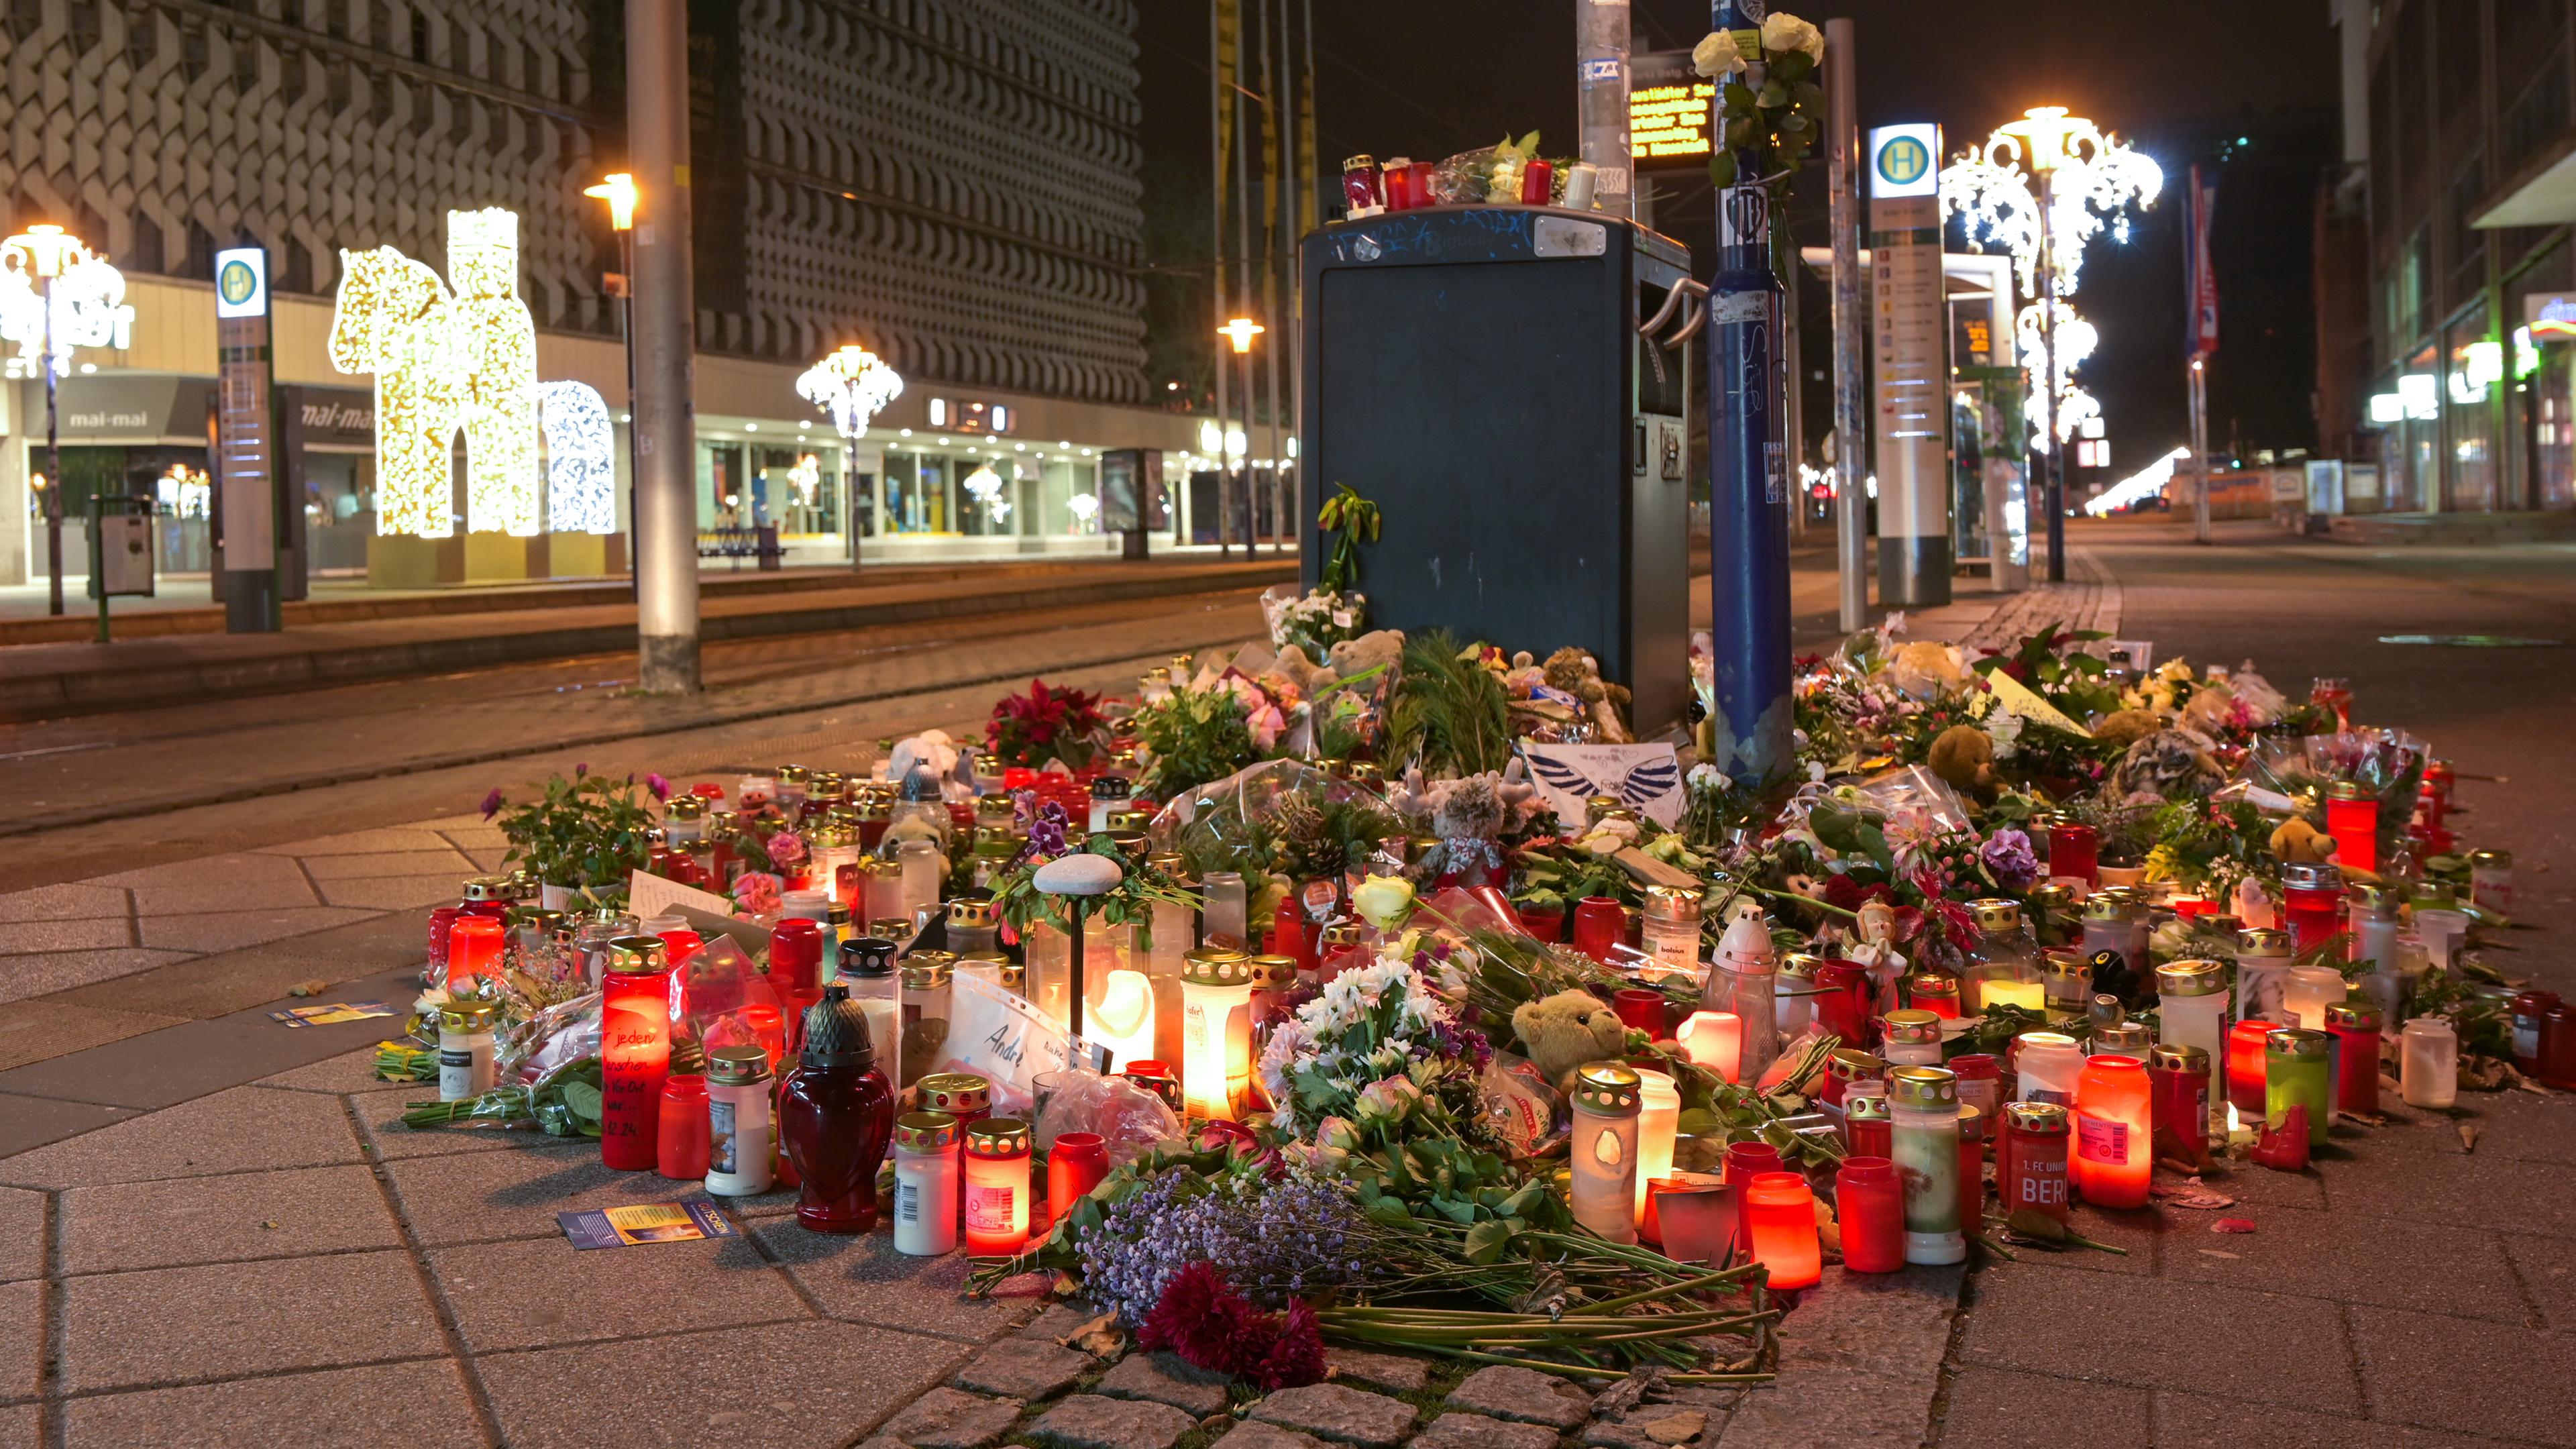
[[[1252,0],[1247,0],[1252,3]],[[1316,0],[1319,131],[1327,173],[1345,155],[1414,160],[1538,129],[1548,155],[1571,152],[1574,3]],[[2182,382],[2182,173],[2221,162],[2215,253],[2221,353],[2210,371],[2210,446],[2313,443],[2311,204],[2339,155],[2336,34],[2326,0],[2182,0],[2099,5],[2048,0],[1842,0],[1798,8],[1808,21],[1860,26],[1860,124],[1940,121],[1945,150],[1981,139],[2027,106],[2069,106],[2141,144],[2166,191],[2130,232],[2087,253],[2081,307],[2102,348],[2079,379],[2102,397],[2112,474],[2187,438]],[[1687,49],[1708,28],[1690,3],[1638,0],[1654,49]],[[1157,382],[1188,376],[1203,330],[1208,255],[1208,3],[1141,0],[1149,255],[1157,289]],[[2244,142],[2239,142],[2244,139]],[[1327,175],[1329,180],[1329,175]],[[1708,183],[1662,180],[1659,229],[1708,258]],[[1826,242],[1824,162],[1798,178],[1798,240]],[[1806,286],[1808,369],[1824,366],[1826,291]],[[1808,382],[1808,454],[1829,418]]]

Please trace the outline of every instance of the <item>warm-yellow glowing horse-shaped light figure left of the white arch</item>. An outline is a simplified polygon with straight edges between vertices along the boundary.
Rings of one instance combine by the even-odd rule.
[[[538,402],[536,317],[518,297],[518,214],[448,211],[448,276],[453,294],[394,248],[340,253],[330,358],[376,376],[376,531],[456,531],[461,428],[466,526],[526,539],[538,531]]]

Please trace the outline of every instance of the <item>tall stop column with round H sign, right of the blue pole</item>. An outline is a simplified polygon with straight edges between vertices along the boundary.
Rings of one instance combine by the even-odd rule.
[[[1878,384],[1878,601],[1950,603],[1950,320],[1942,297],[1940,126],[1870,131],[1870,294]]]

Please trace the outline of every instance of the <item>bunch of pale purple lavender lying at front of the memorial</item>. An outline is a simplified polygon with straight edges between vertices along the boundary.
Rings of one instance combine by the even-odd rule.
[[[1213,1263],[1262,1307],[1363,1276],[1365,1225],[1342,1189],[1257,1171],[1164,1171],[1108,1209],[1079,1243],[1084,1292],[1144,1323],[1188,1263]]]

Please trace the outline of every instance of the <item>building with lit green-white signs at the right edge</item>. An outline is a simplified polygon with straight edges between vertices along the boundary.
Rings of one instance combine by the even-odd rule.
[[[2334,23],[2318,436],[2375,464],[2347,508],[2576,508],[2571,3],[2336,0]]]

